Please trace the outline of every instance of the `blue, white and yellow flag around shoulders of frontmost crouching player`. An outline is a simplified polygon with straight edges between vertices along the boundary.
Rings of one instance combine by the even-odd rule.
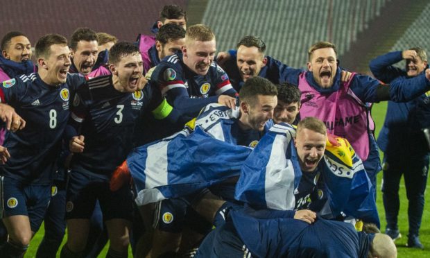
[[[286,123],[270,128],[259,141],[241,169],[235,198],[257,209],[294,209],[294,191],[302,172],[293,145],[295,129]],[[365,172],[363,162],[350,143],[341,137],[330,137],[322,169],[329,212],[341,213],[379,226],[374,198],[375,188]]]

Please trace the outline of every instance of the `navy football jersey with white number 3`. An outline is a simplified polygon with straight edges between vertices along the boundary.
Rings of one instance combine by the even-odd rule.
[[[151,95],[151,87],[119,92],[112,76],[93,78],[88,87],[80,88],[74,98],[71,126],[85,137],[85,149],[74,154],[72,169],[110,177],[132,150],[135,122],[150,105]]]

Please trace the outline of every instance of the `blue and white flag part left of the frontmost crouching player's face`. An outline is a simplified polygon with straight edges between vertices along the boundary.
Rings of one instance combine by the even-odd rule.
[[[286,123],[270,128],[242,166],[236,200],[257,209],[294,209],[294,189],[302,176],[294,137],[295,129]]]

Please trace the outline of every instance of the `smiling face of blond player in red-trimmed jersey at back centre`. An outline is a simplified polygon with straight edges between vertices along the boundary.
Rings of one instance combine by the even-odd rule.
[[[215,39],[210,41],[191,41],[182,46],[184,64],[198,75],[206,75],[214,61],[216,52]]]

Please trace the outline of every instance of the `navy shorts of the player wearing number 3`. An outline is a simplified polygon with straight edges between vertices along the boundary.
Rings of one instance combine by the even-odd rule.
[[[118,191],[110,191],[109,179],[72,170],[67,182],[66,219],[91,218],[96,200],[100,203],[103,221],[113,218],[132,221],[133,199],[128,184]]]

